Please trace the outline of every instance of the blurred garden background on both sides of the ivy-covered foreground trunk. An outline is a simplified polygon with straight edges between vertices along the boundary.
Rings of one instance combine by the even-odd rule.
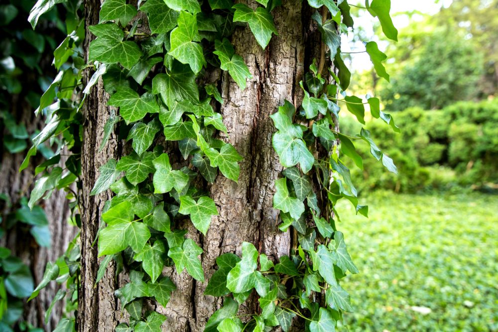
[[[60,304],[52,320],[36,310],[50,305],[55,290],[49,287],[27,307],[22,300],[72,232],[68,207],[57,203],[65,201],[61,193],[27,208],[32,174],[42,172],[43,164],[17,170],[42,126],[33,110],[56,74],[53,50],[64,40],[58,51],[68,57],[75,51],[73,40],[64,39],[74,26],[56,7],[33,31],[26,17],[34,1],[4,2],[0,331],[42,331],[28,321],[47,329],[58,321]],[[399,175],[371,158],[367,145],[359,144],[364,169],[348,165],[370,218],[340,202],[338,227],[349,234],[349,251],[361,270],[343,283],[355,306],[343,330],[498,331],[498,0],[391,2],[397,43],[383,39],[380,26],[359,7],[352,7],[353,14],[365,18],[355,20],[354,31],[343,38],[342,51],[356,70],[352,93],[380,97],[401,129],[395,133],[375,119],[366,126]],[[390,82],[376,76],[364,40],[377,41],[387,54]],[[341,112],[341,131],[356,135],[361,127],[348,114]],[[45,167],[55,161],[51,150],[38,152]],[[49,225],[47,215],[57,222]]]

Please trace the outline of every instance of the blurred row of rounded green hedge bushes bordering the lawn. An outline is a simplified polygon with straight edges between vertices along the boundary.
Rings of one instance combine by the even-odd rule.
[[[498,102],[460,102],[440,111],[412,108],[396,112],[403,128],[395,134],[381,123],[367,126],[379,146],[397,161],[399,175],[384,173],[382,167],[365,160],[365,169],[352,170],[360,176],[362,190],[390,189],[416,192],[451,189],[454,186],[486,186],[498,183]],[[343,118],[342,132],[355,132],[358,125]],[[344,146],[343,146],[344,152]],[[369,150],[359,147],[365,156]]]

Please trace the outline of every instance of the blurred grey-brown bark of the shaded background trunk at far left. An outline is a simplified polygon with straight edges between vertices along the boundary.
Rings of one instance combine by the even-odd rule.
[[[18,121],[26,124],[28,132],[34,132],[43,126],[43,121],[35,117],[33,110],[26,103],[20,102],[18,96],[13,96],[10,103],[11,113],[15,114]],[[4,128],[1,128],[2,132]],[[3,146],[0,140],[0,146]],[[1,151],[0,154],[0,193],[6,194],[13,207],[19,206],[22,197],[29,197],[33,187],[34,164],[40,160],[31,162],[31,166],[19,173],[24,154],[10,154]],[[35,159],[35,158],[34,158]],[[33,274],[33,280],[37,285],[45,271],[45,265],[49,261],[55,261],[67,248],[68,243],[75,235],[74,227],[68,224],[69,206],[63,191],[54,191],[52,196],[40,203],[44,208],[49,221],[52,244],[50,248],[40,247],[29,233],[29,226],[17,222],[13,228],[5,231],[5,236],[0,240],[0,245],[11,250],[11,254],[22,259]],[[0,205],[0,215],[6,216],[11,211],[4,205]],[[4,223],[2,226],[4,227]],[[26,303],[24,306],[24,319],[33,326],[45,328],[52,331],[61,319],[63,303],[58,302],[52,310],[52,316],[48,324],[45,324],[45,311],[50,306],[55,293],[60,285],[50,283],[40,291],[37,298]]]

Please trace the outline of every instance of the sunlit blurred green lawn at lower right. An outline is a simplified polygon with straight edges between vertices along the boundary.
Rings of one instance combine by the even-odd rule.
[[[338,209],[360,270],[342,282],[356,309],[343,331],[498,331],[498,196],[376,193],[361,203],[370,219],[348,202]]]

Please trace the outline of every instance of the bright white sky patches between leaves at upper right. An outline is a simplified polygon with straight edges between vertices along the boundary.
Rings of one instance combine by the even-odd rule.
[[[403,27],[406,27],[409,23],[408,17],[406,15],[402,15],[402,12],[417,10],[425,14],[435,14],[440,9],[441,6],[447,7],[452,0],[391,0],[391,10],[390,15],[392,17],[392,22],[394,26],[400,30]],[[364,5],[364,3],[360,4]],[[355,20],[355,26],[362,26],[365,30],[372,30],[373,21],[376,18],[371,15],[362,15],[362,17],[353,17]],[[416,20],[416,16],[412,16],[412,20]],[[361,43],[352,44],[348,41],[349,38],[342,38],[341,42],[341,50],[343,52],[351,52],[351,51],[364,51],[365,47]],[[375,40],[375,39],[374,39]],[[378,40],[375,40],[378,42]],[[380,50],[385,50],[387,44],[378,43]],[[387,54],[387,56],[389,56]],[[367,53],[357,53],[352,54],[352,66],[355,71],[364,71],[372,68],[372,62]]]

